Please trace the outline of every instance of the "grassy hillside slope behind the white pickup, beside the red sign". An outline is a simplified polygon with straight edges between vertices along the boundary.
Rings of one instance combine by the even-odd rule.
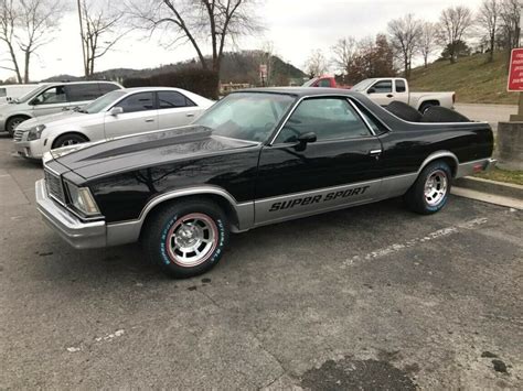
[[[427,68],[413,69],[409,85],[418,91],[456,91],[461,104],[516,105],[517,93],[506,91],[506,54],[495,53],[487,63],[487,54],[458,58],[456,64],[437,61]]]

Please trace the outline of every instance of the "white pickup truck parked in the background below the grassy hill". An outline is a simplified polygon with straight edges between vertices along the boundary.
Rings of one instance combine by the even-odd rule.
[[[425,112],[431,106],[452,109],[456,100],[455,93],[410,93],[407,80],[399,77],[367,78],[351,89],[367,95],[381,106],[399,100],[420,112]]]

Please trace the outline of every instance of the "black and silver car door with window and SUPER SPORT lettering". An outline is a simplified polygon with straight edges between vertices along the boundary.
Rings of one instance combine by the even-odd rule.
[[[316,142],[300,144],[313,132]],[[270,145],[262,150],[256,224],[280,221],[365,203],[380,192],[380,140],[345,98],[299,104]]]

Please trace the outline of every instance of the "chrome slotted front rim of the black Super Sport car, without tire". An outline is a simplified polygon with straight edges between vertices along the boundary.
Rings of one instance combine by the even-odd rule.
[[[214,220],[204,214],[179,218],[167,235],[169,258],[185,268],[205,262],[216,249],[218,231]]]

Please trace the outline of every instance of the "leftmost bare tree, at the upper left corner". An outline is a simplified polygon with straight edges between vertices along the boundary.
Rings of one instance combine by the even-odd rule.
[[[29,83],[31,56],[52,41],[64,7],[60,0],[20,0],[17,42],[24,57],[23,83]]]

